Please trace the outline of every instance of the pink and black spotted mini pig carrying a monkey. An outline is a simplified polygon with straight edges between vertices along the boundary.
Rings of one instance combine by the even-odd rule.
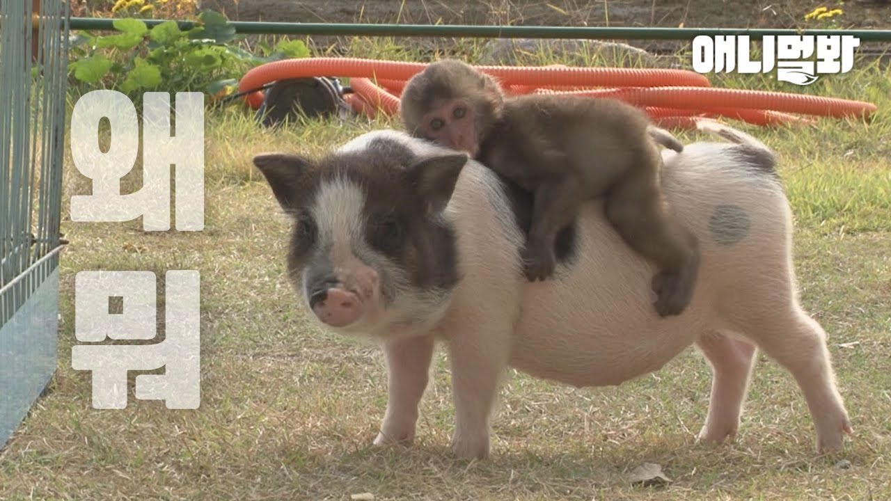
[[[714,380],[699,439],[740,423],[756,347],[804,393],[820,451],[851,432],[825,333],[801,308],[789,203],[772,152],[717,123],[730,142],[665,150],[666,200],[702,245],[682,315],[652,308],[653,268],[620,240],[602,201],[560,233],[551,280],[527,282],[520,250],[532,198],[464,154],[402,132],[356,137],[322,159],[254,163],[293,220],[288,273],[322,324],[380,341],[388,404],[375,444],[411,443],[434,344],[445,344],[457,456],[489,454],[490,413],[509,366],[576,387],[658,370],[695,344]]]

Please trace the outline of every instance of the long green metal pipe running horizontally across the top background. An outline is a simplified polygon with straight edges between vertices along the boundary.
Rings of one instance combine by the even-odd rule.
[[[110,19],[71,18],[71,29],[113,30]],[[166,20],[143,20],[151,28]],[[191,29],[192,21],[178,21]],[[862,41],[891,41],[889,29],[603,28],[571,26],[475,26],[464,24],[353,24],[326,22],[231,21],[241,34],[359,37],[600,38],[614,40],[691,40],[698,35],[854,35]]]

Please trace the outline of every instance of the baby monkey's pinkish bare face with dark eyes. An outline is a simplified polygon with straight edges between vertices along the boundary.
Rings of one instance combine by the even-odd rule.
[[[476,111],[464,99],[439,100],[421,117],[421,131],[428,139],[471,157],[479,152]]]

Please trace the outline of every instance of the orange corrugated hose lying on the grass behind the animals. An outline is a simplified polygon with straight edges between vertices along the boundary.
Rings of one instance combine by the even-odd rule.
[[[399,110],[405,82],[427,67],[423,62],[378,61],[356,58],[307,58],[269,62],[249,70],[239,83],[247,92],[275,80],[337,75],[350,79],[355,94],[345,99],[354,111],[373,118]],[[695,127],[695,117],[727,117],[770,126],[813,123],[791,113],[833,118],[868,118],[876,106],[862,101],[805,94],[789,94],[711,87],[708,79],[687,70],[570,68],[562,65],[476,66],[497,78],[508,94],[576,94],[612,97],[634,104],[666,127]],[[590,88],[601,87],[601,88]],[[608,87],[608,88],[602,88]],[[246,94],[253,108],[263,102],[261,92]]]

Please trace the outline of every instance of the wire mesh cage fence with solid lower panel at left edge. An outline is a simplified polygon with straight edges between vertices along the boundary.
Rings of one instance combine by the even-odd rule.
[[[0,446],[56,365],[67,0],[0,0]]]

